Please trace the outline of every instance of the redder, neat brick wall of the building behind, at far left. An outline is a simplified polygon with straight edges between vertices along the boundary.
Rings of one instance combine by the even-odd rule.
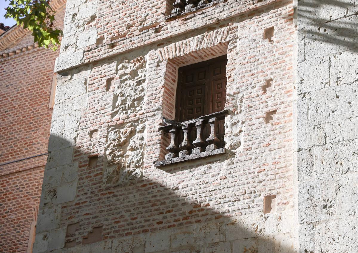
[[[64,9],[56,14],[59,26]],[[0,251],[27,252],[47,160],[59,52],[38,48],[30,35],[13,29],[0,37],[1,46],[7,45],[0,52]]]

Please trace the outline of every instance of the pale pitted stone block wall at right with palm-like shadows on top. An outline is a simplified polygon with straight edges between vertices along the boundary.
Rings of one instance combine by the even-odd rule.
[[[356,2],[299,1],[300,252],[357,252]]]

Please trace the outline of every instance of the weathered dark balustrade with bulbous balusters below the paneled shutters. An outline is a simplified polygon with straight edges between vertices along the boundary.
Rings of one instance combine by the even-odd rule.
[[[225,152],[223,120],[228,110],[201,116],[181,124],[159,127],[159,131],[170,134],[169,152],[156,167],[218,155]],[[219,127],[221,126],[221,127]]]

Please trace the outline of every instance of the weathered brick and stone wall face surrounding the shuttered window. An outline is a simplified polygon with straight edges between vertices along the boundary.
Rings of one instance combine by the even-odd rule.
[[[34,251],[294,252],[292,4],[146,5],[67,4]],[[226,54],[226,154],[154,167],[178,68]]]

